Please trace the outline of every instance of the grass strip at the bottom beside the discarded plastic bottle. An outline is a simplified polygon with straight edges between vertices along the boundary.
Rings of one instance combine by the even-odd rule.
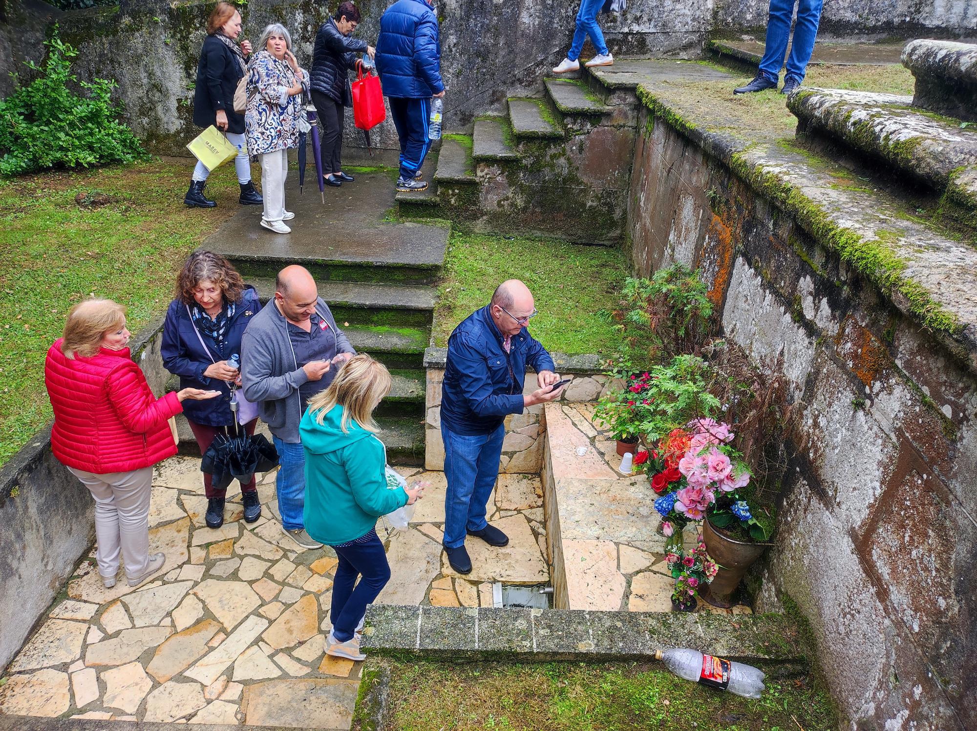
[[[828,731],[837,718],[810,676],[767,678],[751,701],[657,664],[390,663],[396,731]]]

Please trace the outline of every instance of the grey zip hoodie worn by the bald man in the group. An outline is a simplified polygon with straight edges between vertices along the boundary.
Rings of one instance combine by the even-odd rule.
[[[356,353],[346,334],[322,298],[316,301],[316,312],[336,334],[336,354]],[[299,444],[299,421],[302,399],[299,386],[309,381],[305,370],[295,362],[285,317],[275,300],[251,318],[241,338],[241,384],[244,398],[258,403],[258,415],[278,439]],[[322,358],[331,358],[323,353]]]

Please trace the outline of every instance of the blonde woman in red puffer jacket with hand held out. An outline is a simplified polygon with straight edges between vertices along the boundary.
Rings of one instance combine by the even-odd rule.
[[[80,302],[44,363],[55,412],[51,451],[95,498],[96,558],[106,588],[115,585],[120,550],[130,586],[162,568],[165,556],[149,555],[152,465],[177,452],[168,419],[181,403],[220,394],[185,388],[156,399],[130,358],[130,334],[121,305]]]

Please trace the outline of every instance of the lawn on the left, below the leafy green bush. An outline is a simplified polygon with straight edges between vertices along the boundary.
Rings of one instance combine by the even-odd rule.
[[[188,159],[0,182],[0,463],[50,417],[44,354],[72,304],[109,297],[137,332],[161,315],[184,258],[238,207],[234,166],[214,173],[209,210],[183,204]],[[81,192],[109,202],[87,207]]]

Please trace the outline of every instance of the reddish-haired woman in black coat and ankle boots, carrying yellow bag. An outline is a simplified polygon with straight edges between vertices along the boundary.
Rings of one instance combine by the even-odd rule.
[[[207,37],[200,49],[200,61],[196,66],[196,86],[193,89],[193,124],[202,129],[214,125],[225,133],[228,141],[237,148],[234,169],[241,194],[238,200],[244,205],[261,205],[261,194],[251,182],[251,160],[244,142],[244,115],[234,111],[234,91],[244,76],[244,57],[251,53],[251,42],[241,41],[238,47],[234,38],[241,32],[241,16],[231,3],[218,3],[207,19]],[[213,208],[216,203],[204,197],[210,170],[202,162],[193,168],[190,190],[184,203],[191,208]]]

